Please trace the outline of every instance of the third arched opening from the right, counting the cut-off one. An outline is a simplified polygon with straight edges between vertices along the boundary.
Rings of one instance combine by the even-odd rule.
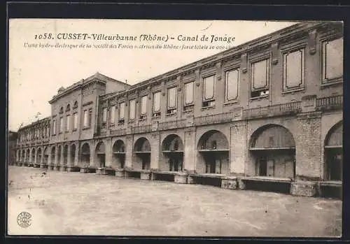
[[[197,152],[197,173],[230,173],[228,139],[221,131],[204,133],[198,141]]]

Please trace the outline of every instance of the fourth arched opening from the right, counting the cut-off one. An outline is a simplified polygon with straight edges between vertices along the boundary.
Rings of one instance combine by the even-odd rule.
[[[183,170],[183,143],[180,136],[171,134],[162,143],[162,171]]]

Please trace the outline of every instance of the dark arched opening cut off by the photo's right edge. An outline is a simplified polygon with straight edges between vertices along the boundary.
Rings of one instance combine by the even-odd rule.
[[[328,131],[325,137],[325,178],[342,180],[343,175],[343,122]]]

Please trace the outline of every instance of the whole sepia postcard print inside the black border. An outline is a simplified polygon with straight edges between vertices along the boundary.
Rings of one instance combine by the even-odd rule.
[[[8,20],[9,236],[342,236],[343,22]]]

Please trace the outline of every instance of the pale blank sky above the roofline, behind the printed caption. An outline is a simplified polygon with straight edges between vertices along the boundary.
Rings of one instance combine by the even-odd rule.
[[[131,85],[195,62],[235,45],[251,41],[295,22],[195,21],[195,20],[10,20],[8,71],[8,127],[17,131],[50,116],[48,101],[59,87],[99,73]],[[52,34],[53,40],[35,35]],[[137,36],[137,41],[57,40],[57,34],[105,34]],[[167,42],[139,41],[141,34],[174,36]],[[178,41],[179,35],[209,37],[208,41]],[[211,35],[235,37],[227,43],[210,43]],[[28,44],[90,44],[92,48],[29,48]],[[93,48],[93,44],[123,45],[213,45],[207,50]],[[36,115],[41,113],[36,118]]]

